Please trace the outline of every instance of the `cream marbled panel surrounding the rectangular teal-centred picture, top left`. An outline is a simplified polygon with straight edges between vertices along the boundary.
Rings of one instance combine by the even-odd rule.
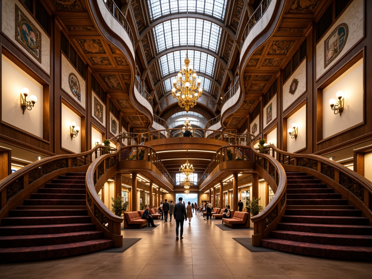
[[[19,42],[16,41],[16,4],[17,7],[28,17],[41,33],[41,62],[33,57]],[[50,39],[47,33],[44,32],[39,23],[33,19],[28,10],[17,0],[1,1],[1,31],[19,47],[36,65],[41,67],[47,74],[50,75]]]

